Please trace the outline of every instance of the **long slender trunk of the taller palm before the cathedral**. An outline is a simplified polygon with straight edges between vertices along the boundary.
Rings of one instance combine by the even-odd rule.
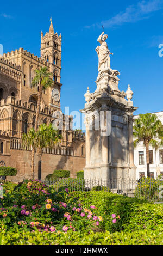
[[[37,101],[37,108],[36,108],[36,118],[35,118],[35,126],[34,130],[35,132],[37,131],[37,125],[38,125],[38,119],[39,119],[39,112],[40,112],[40,105],[41,105],[41,98],[42,98],[42,90],[43,87],[40,84],[39,87],[39,96],[38,96],[38,101]],[[35,149],[32,149],[32,159],[31,159],[31,174],[32,174],[32,179],[34,179],[35,176]]]

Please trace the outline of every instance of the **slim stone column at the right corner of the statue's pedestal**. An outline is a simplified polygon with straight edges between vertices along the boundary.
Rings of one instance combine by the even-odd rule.
[[[133,117],[128,119],[128,137],[129,137],[129,163],[134,166],[134,146],[133,146]]]

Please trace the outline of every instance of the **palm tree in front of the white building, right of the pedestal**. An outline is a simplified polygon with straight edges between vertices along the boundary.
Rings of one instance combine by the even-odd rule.
[[[133,135],[134,148],[139,144],[140,139],[146,148],[147,176],[150,177],[149,171],[149,145],[158,148],[163,143],[163,125],[156,114],[139,114],[139,118],[134,120]]]

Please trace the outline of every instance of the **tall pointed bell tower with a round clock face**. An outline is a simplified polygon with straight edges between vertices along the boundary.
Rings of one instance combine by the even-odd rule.
[[[54,86],[49,88],[49,106],[60,108],[61,34],[54,33],[52,18],[49,32],[43,36],[41,31],[41,58],[48,62],[49,72],[53,74]]]

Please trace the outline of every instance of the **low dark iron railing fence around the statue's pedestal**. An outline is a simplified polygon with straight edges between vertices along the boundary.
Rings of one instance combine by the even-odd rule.
[[[163,180],[154,179],[73,179],[62,178],[43,181],[53,191],[108,191],[142,200],[163,202]]]

